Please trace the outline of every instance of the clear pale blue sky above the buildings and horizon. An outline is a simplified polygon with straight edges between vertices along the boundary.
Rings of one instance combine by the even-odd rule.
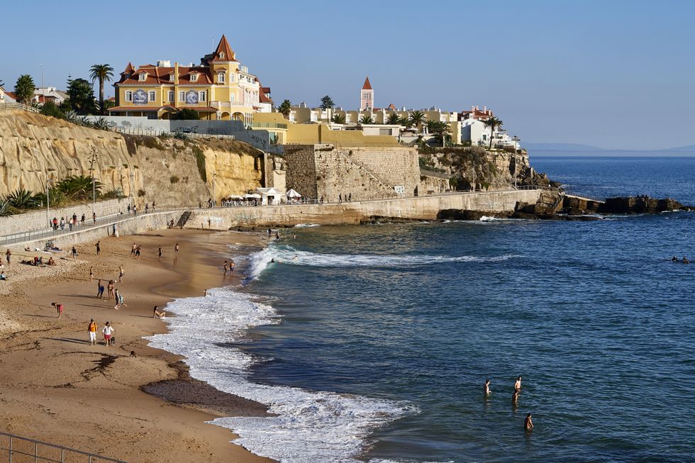
[[[35,0],[1,14],[8,90],[21,74],[65,89],[96,63],[116,77],[128,61],[197,64],[224,33],[276,104],[357,108],[368,75],[377,107],[487,106],[522,145],[695,145],[695,1]]]

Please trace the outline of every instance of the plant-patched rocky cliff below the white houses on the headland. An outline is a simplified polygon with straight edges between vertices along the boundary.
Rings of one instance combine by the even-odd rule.
[[[511,152],[489,152],[480,147],[429,148],[420,153],[421,167],[450,176],[457,190],[506,189],[514,184],[514,164],[518,185],[550,186],[545,174],[533,170],[527,155]],[[555,184],[554,186],[558,186]]]

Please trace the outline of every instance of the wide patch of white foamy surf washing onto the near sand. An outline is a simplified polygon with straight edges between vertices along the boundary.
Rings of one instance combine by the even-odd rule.
[[[265,404],[269,417],[217,418],[233,430],[233,442],[279,462],[355,462],[375,428],[418,409],[405,402],[254,384],[249,368],[258,359],[231,347],[245,342],[257,325],[279,323],[277,311],[250,294],[211,289],[204,297],[176,299],[167,305],[169,333],[154,335],[150,345],[185,357],[190,374],[216,389]]]

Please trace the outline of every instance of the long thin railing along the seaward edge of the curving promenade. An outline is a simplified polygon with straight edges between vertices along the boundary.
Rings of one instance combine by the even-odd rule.
[[[70,230],[69,226],[66,224],[65,228],[40,228],[36,230],[27,230],[22,233],[13,233],[11,235],[4,235],[0,236],[0,246],[8,246],[8,245],[13,245],[16,243],[20,242],[28,242],[28,241],[37,241],[37,240],[52,240],[53,238],[58,238],[62,235],[70,235],[71,233],[79,233],[82,231],[86,230],[94,230],[96,228],[100,227],[111,227],[114,224],[118,225],[118,223],[123,223],[125,221],[131,221],[131,220],[137,220],[138,218],[142,216],[150,216],[152,214],[157,214],[157,213],[183,213],[184,211],[213,211],[213,210],[221,210],[221,209],[226,209],[226,208],[234,208],[234,207],[296,207],[296,206],[304,206],[308,204],[315,204],[318,206],[321,205],[329,205],[329,204],[349,204],[349,203],[376,203],[376,202],[383,202],[383,201],[394,201],[397,199],[418,199],[418,198],[435,198],[435,197],[441,197],[441,196],[465,196],[465,195],[470,195],[470,194],[494,194],[494,193],[508,193],[511,191],[520,191],[520,190],[546,190],[546,191],[557,191],[557,189],[552,188],[550,186],[536,186],[536,185],[525,185],[525,186],[518,186],[516,189],[510,188],[510,189],[502,189],[502,190],[492,190],[492,191],[449,191],[446,193],[438,193],[438,194],[427,194],[423,196],[408,196],[408,197],[396,197],[396,198],[384,198],[384,199],[369,199],[369,200],[361,200],[361,201],[321,201],[320,199],[301,199],[301,200],[288,200],[286,203],[282,204],[261,204],[260,201],[224,201],[223,203],[217,204],[213,207],[209,207],[207,205],[202,205],[202,206],[165,206],[165,207],[160,207],[157,206],[156,210],[152,211],[150,210],[149,212],[140,212],[138,213],[133,213],[133,211],[130,211],[130,213],[114,213],[110,214],[109,216],[101,216],[96,218],[96,221],[93,219],[85,219],[84,224],[78,221],[77,225],[74,225],[72,230]],[[177,221],[177,216],[172,216],[171,218],[174,219],[174,223]],[[118,228],[116,228],[116,231],[118,231]]]

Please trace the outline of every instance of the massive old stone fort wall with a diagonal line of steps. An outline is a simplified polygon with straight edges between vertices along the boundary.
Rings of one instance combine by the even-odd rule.
[[[420,182],[418,153],[410,147],[287,147],[287,187],[307,198],[352,201],[410,197]]]

